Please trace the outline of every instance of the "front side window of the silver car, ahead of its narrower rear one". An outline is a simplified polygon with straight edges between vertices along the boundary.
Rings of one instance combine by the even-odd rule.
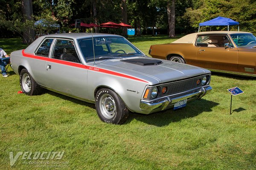
[[[81,63],[72,40],[57,40],[52,58]]]

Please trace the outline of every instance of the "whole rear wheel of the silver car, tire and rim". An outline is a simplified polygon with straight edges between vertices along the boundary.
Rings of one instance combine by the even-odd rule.
[[[43,91],[26,69],[20,71],[20,88],[29,96],[41,94]]]

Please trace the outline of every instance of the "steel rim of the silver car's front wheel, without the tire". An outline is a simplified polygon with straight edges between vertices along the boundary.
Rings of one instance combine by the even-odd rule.
[[[103,94],[99,99],[99,108],[102,115],[107,119],[112,119],[116,114],[116,103],[112,96]]]

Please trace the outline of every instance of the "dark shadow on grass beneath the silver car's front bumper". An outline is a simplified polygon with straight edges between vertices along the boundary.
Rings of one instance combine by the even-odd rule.
[[[155,126],[166,126],[171,122],[179,122],[182,119],[188,119],[195,117],[202,112],[211,112],[212,108],[219,105],[219,103],[208,101],[205,99],[195,100],[188,102],[187,106],[182,109],[174,111],[172,108],[166,111],[161,111],[157,113],[151,113],[149,115],[131,113],[125,124],[130,123],[133,119],[137,121],[144,122],[148,125]]]

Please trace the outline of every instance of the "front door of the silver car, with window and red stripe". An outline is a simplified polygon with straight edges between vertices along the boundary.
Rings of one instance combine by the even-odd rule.
[[[87,98],[87,67],[73,40],[56,39],[46,65],[47,87],[66,95]]]

